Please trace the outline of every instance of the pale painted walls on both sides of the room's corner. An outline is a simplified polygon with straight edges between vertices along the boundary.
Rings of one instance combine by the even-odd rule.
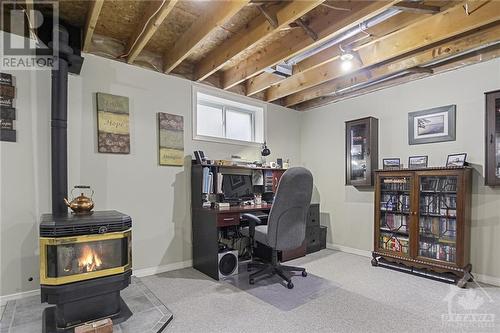
[[[0,143],[0,296],[35,290],[38,222],[50,211],[50,73],[16,71],[17,143]],[[87,55],[80,76],[69,79],[69,184],[89,184],[96,209],[116,209],[134,220],[134,268],[178,265],[191,259],[189,170],[157,164],[156,113],[184,116],[185,153],[210,158],[240,154],[257,158],[255,147],[191,139],[192,83]],[[328,241],[371,250],[373,193],[344,186],[344,122],[368,115],[380,120],[380,158],[426,154],[430,165],[449,152],[468,152],[474,173],[472,263],[500,278],[500,189],[483,183],[485,91],[500,87],[500,60],[467,67],[355,99],[298,113],[268,105],[267,141],[276,157],[303,161],[315,177]],[[131,154],[96,149],[95,93],[128,96]],[[407,113],[457,104],[457,141],[407,144]],[[29,278],[33,277],[32,281]]]

